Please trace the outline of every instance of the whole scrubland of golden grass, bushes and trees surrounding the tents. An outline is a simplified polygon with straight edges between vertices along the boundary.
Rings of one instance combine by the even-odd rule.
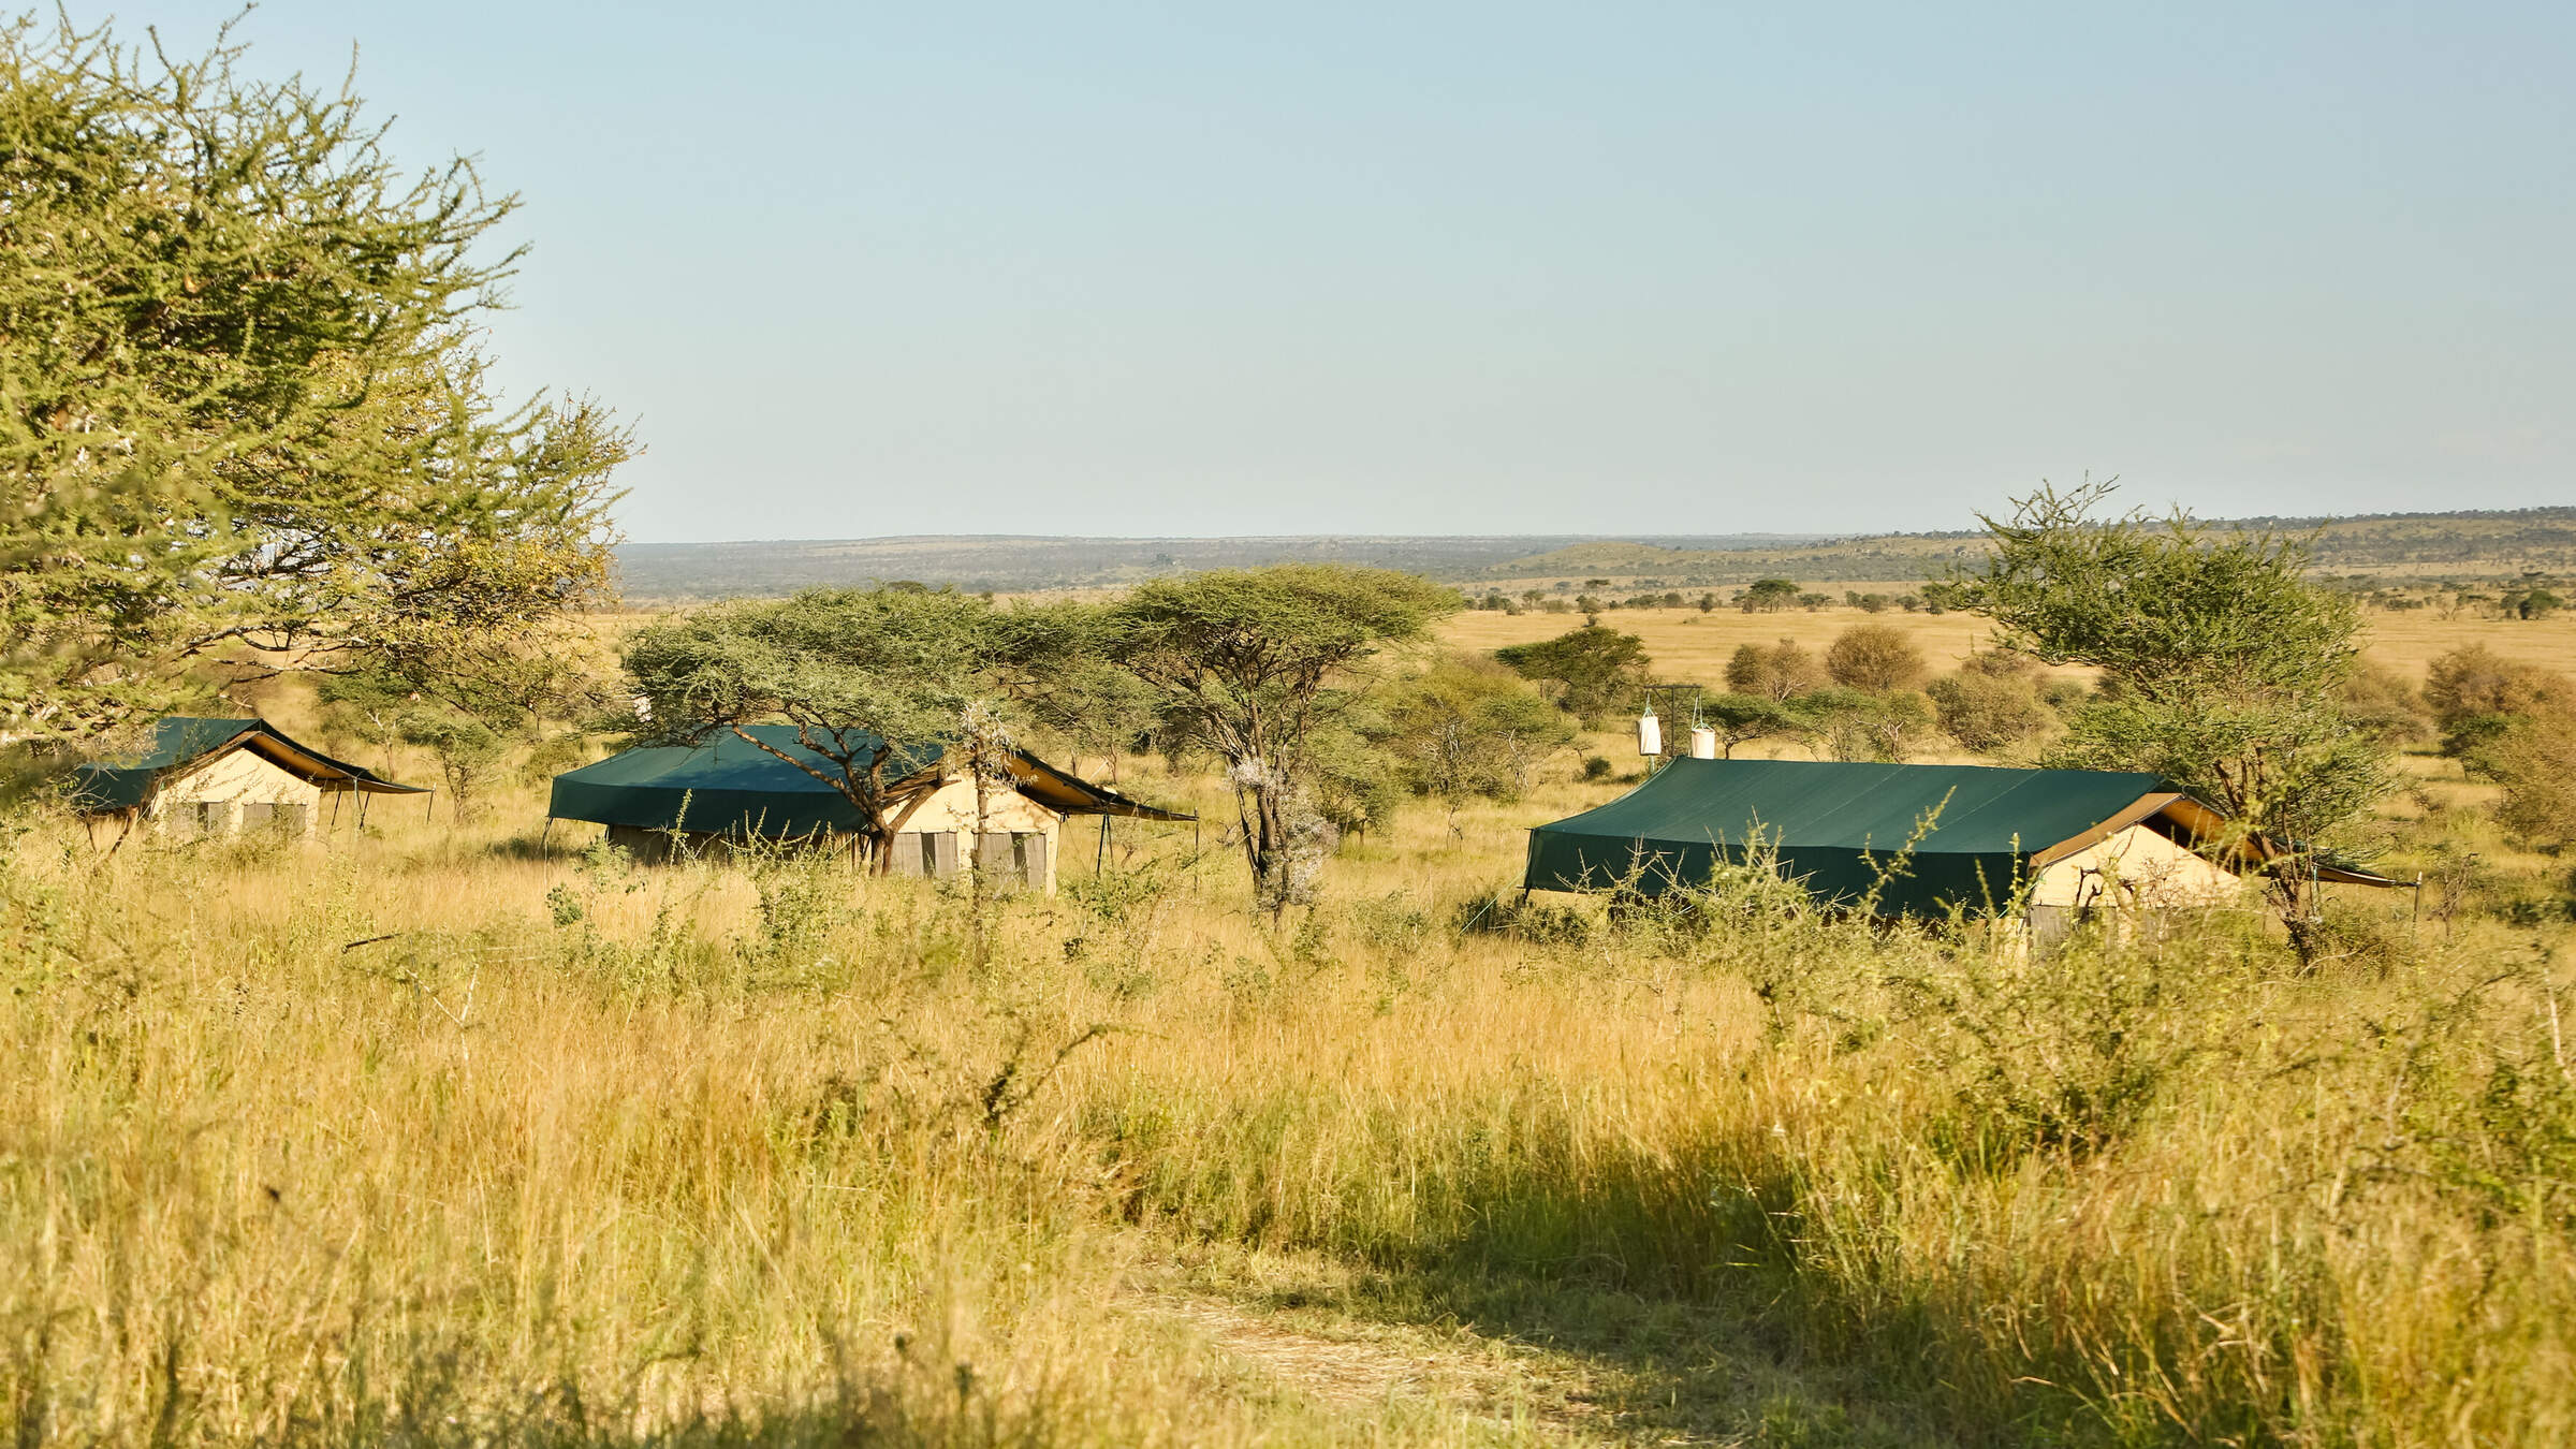
[[[1839,606],[1610,596],[1718,565],[1584,544],[1587,593],[1471,616],[1157,559],[585,634],[634,441],[489,387],[515,199],[240,59],[0,26],[21,1449],[2576,1436],[2555,575],[2326,588],[2331,539],[2043,487],[1772,559],[1960,565]],[[2488,523],[2563,562],[2561,516]],[[1728,750],[2156,771],[2280,846],[2264,908],[2043,954],[1759,861],[1522,897],[1646,686]],[[435,815],[178,843],[49,794],[245,706]],[[858,856],[951,748],[1206,833],[994,897],[541,830],[569,763],[775,722]],[[2424,887],[2321,892],[2326,853]]]

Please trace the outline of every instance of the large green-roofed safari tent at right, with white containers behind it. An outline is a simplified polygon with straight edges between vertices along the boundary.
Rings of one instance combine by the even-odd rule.
[[[2280,848],[2154,773],[1680,758],[1610,804],[1530,830],[1522,884],[1659,895],[1754,853],[1834,905],[1989,915],[2025,902],[2048,936],[2102,905],[2236,900]]]

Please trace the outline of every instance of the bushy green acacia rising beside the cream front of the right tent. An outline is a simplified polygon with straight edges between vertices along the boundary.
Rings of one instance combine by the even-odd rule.
[[[1963,603],[2002,647],[2102,670],[2048,763],[2156,771],[2285,851],[2267,892],[2313,944],[2300,869],[2388,789],[2388,750],[2342,709],[2360,657],[2352,596],[2308,583],[2308,544],[2213,536],[2184,518],[2094,518],[2112,485],[2014,500]]]

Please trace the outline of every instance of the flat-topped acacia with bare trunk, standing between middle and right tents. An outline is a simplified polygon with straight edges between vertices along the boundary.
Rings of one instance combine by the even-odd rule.
[[[1345,704],[1332,683],[1388,645],[1422,639],[1455,593],[1394,570],[1275,565],[1151,580],[1108,606],[1108,652],[1226,763],[1255,902],[1273,918],[1303,890],[1298,799],[1311,743]]]

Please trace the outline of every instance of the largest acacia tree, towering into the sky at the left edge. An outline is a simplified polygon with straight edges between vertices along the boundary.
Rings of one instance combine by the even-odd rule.
[[[204,665],[523,701],[567,657],[531,637],[605,590],[626,431],[505,405],[471,327],[515,199],[240,57],[0,23],[0,735]]]

